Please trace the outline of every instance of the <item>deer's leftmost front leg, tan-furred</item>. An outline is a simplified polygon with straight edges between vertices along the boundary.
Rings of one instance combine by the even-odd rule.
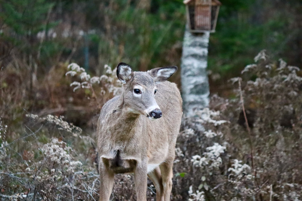
[[[100,198],[99,201],[108,201],[110,199],[114,173],[108,168],[108,160],[102,158],[98,164],[98,171],[100,173]]]

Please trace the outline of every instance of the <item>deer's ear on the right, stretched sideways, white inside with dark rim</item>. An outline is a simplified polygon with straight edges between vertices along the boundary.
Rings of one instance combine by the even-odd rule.
[[[147,73],[149,73],[151,77],[153,77],[156,84],[159,84],[169,79],[176,71],[177,71],[176,66],[167,66],[167,67],[151,69],[147,71]]]

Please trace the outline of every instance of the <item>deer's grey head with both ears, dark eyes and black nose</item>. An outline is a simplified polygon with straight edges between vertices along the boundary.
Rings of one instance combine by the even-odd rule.
[[[162,116],[156,103],[156,84],[166,81],[177,70],[176,66],[156,68],[147,72],[133,72],[126,63],[117,65],[117,78],[122,81],[124,106],[129,112],[139,113],[149,119]]]

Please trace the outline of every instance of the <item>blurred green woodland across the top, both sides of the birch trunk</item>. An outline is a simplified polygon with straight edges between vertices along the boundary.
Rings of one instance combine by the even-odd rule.
[[[300,1],[221,2],[209,45],[214,75],[238,76],[261,49],[291,65],[302,63]],[[0,40],[34,58],[39,54],[41,72],[58,61],[86,62],[97,74],[121,60],[136,70],[180,65],[186,23],[181,0],[0,0],[0,10]]]

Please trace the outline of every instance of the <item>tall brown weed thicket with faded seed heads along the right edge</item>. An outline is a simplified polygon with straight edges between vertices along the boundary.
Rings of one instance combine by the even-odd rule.
[[[263,50],[255,57],[255,64],[243,69],[241,78],[233,79],[240,80],[241,88],[235,82],[238,98],[228,101],[223,116],[230,120],[230,137],[236,152],[244,156],[240,160],[245,161],[242,164],[234,159],[228,168],[228,182],[238,189],[233,193],[239,199],[286,200],[292,199],[291,195],[301,195],[302,180],[295,176],[302,174],[302,164],[296,162],[296,152],[302,148],[301,75],[298,67],[287,65],[282,59],[272,62]]]

